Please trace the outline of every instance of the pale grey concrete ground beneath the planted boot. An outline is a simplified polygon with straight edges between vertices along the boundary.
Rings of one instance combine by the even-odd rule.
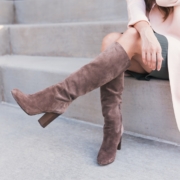
[[[128,135],[112,164],[100,167],[103,129],[60,116],[45,129],[38,116],[0,105],[3,180],[178,180],[180,147]]]

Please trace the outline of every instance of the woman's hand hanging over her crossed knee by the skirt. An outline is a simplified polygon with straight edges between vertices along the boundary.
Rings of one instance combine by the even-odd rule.
[[[141,29],[141,40],[142,40],[142,60],[144,64],[148,65],[152,70],[161,69],[162,65],[162,49],[150,27]]]

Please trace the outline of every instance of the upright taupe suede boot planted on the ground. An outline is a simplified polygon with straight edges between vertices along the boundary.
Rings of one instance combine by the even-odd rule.
[[[102,114],[104,116],[103,142],[97,162],[99,165],[112,163],[117,149],[121,148],[123,134],[121,103],[124,89],[124,73],[100,87]]]

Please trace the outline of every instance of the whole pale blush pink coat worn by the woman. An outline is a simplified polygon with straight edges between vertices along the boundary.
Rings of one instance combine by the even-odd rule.
[[[174,12],[163,22],[163,15],[157,4],[163,7],[174,6]],[[129,23],[147,21],[152,29],[166,36],[168,40],[168,71],[174,114],[180,131],[180,0],[156,0],[147,17],[144,0],[127,0]]]

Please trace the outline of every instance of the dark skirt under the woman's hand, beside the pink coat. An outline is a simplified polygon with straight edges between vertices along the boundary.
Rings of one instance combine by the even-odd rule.
[[[162,66],[160,71],[153,70],[150,73],[137,73],[133,71],[126,70],[125,72],[130,74],[132,77],[135,77],[138,80],[146,80],[149,81],[151,78],[155,79],[163,79],[169,80],[169,73],[168,73],[168,40],[165,36],[154,32],[155,36],[157,37],[161,48],[162,48],[162,56],[164,60],[162,61]]]

